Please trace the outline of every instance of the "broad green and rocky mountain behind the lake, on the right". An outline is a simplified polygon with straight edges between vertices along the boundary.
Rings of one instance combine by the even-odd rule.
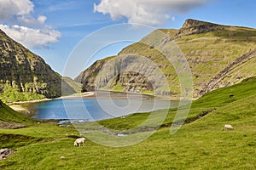
[[[166,36],[160,36],[160,31]],[[105,90],[148,94],[152,94],[155,90],[156,94],[169,95],[168,88],[153,89],[147,77],[133,72],[132,69],[138,70],[138,65],[125,65],[130,71],[119,71],[121,56],[129,55],[132,60],[136,55],[141,55],[158,65],[170,85],[171,96],[178,97],[180,85],[177,71],[157,50],[166,43],[170,43],[170,47],[172,43],[177,44],[189,62],[194,83],[194,98],[199,98],[213,89],[230,86],[248,77],[256,76],[254,69],[256,68],[256,29],[221,26],[189,19],[179,30],[153,31],[140,42],[122,49],[117,56],[96,61],[82,71],[75,81],[83,84],[84,91],[93,90],[97,78],[99,81],[97,83],[101,84],[100,88]],[[107,63],[108,70],[106,70]],[[139,65],[143,69],[146,66],[146,64]],[[99,74],[103,68],[105,73]]]

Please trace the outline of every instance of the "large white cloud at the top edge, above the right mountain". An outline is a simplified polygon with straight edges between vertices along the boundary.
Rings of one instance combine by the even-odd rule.
[[[94,11],[110,14],[112,20],[125,17],[128,23],[160,26],[173,20],[174,13],[184,13],[210,0],[101,0]]]

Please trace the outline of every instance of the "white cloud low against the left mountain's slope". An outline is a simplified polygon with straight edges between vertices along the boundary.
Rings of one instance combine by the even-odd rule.
[[[50,28],[32,29],[26,26],[6,26],[0,24],[0,29],[20,42],[26,48],[46,48],[46,43],[57,42],[61,32]]]

